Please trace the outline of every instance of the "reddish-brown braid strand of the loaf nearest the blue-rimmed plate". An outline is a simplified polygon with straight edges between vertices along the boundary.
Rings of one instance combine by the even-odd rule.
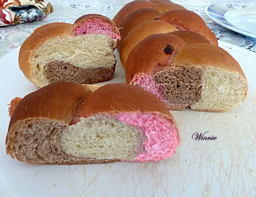
[[[189,10],[171,10],[164,13],[159,20],[174,25],[178,30],[189,30],[204,36],[211,44],[218,46],[218,40],[208,28],[204,20],[196,13]]]

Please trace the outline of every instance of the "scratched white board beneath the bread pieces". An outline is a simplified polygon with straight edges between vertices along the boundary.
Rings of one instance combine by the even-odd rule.
[[[6,55],[0,60],[0,196],[256,196],[256,54],[219,43],[244,70],[246,102],[226,113],[172,111],[181,143],[172,158],[155,163],[28,165],[12,160],[5,152],[7,104],[38,88],[18,69],[18,49]],[[125,82],[119,59],[108,83],[113,82]],[[207,131],[217,139],[192,139],[194,132]]]

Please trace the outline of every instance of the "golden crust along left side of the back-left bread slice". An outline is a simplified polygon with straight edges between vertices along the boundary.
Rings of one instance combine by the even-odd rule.
[[[68,23],[50,23],[41,26],[34,30],[34,32],[24,41],[20,47],[19,53],[19,66],[20,70],[24,73],[25,77],[33,82],[33,77],[31,75],[32,65],[30,58],[34,50],[42,45],[44,42],[48,41],[52,37],[68,37],[70,36],[70,28],[72,24]],[[45,33],[47,32],[47,33]],[[36,83],[34,83],[36,85]]]

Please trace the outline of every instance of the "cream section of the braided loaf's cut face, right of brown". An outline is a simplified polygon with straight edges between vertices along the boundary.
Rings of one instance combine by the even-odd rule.
[[[239,73],[230,73],[216,68],[204,69],[202,93],[194,110],[227,111],[238,107],[245,100],[247,83]]]

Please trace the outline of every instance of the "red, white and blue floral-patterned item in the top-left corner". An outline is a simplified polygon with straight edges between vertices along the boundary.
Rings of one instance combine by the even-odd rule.
[[[51,12],[44,0],[0,0],[0,27],[42,20]]]

